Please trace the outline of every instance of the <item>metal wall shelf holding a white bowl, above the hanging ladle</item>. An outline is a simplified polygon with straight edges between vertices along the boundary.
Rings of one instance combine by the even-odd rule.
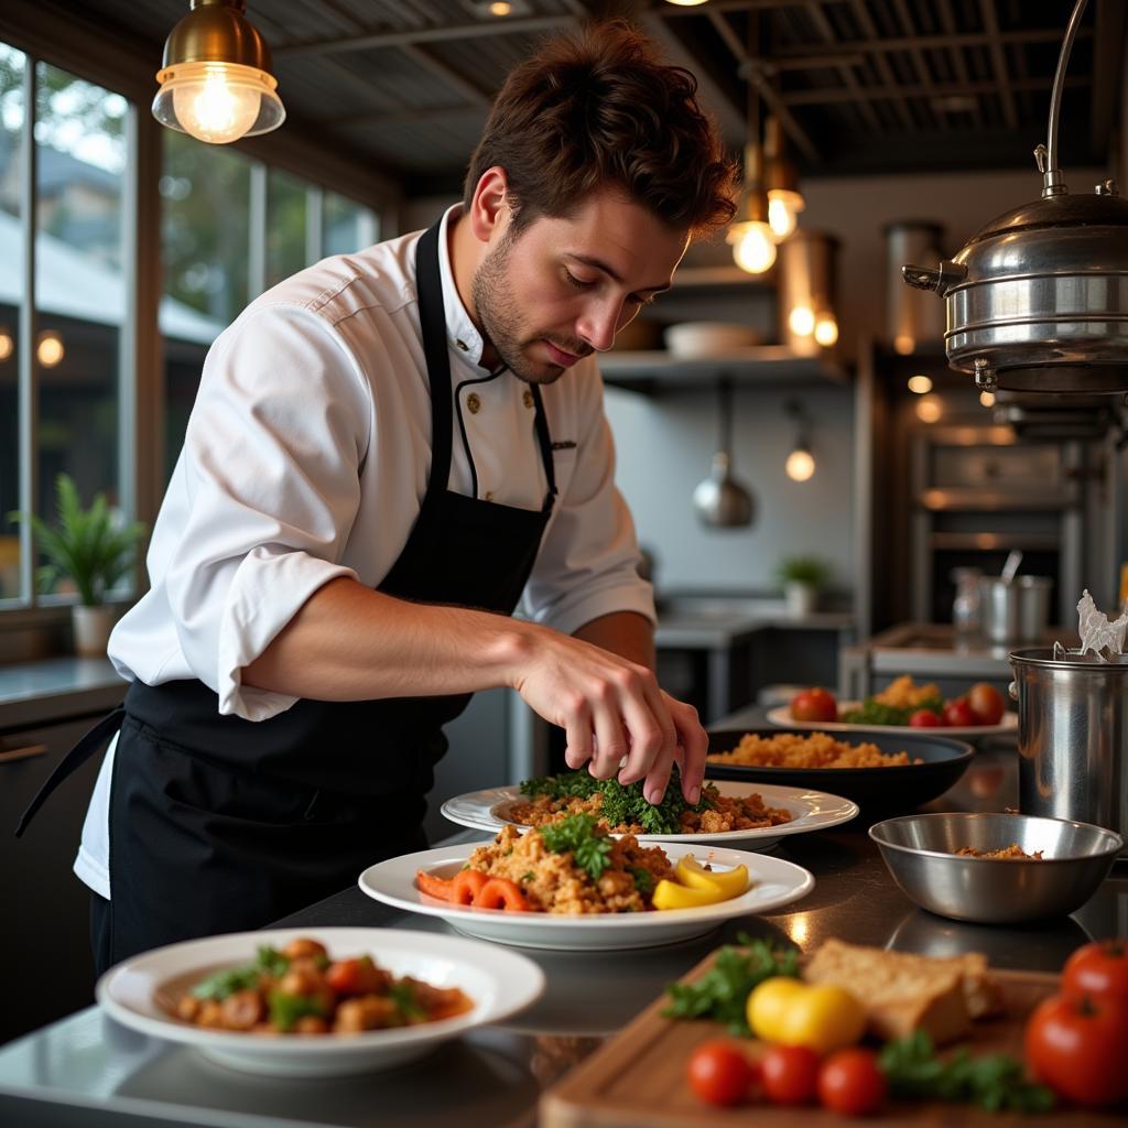
[[[738,386],[795,387],[847,382],[832,355],[796,356],[785,345],[751,345],[715,356],[681,358],[666,350],[609,352],[599,358],[603,381],[632,391],[708,388],[722,379]]]

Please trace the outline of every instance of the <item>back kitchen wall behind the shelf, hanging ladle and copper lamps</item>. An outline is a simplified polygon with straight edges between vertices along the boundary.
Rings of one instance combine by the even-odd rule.
[[[1075,192],[1092,191],[1108,175],[1102,169],[1067,168],[1066,183]],[[940,221],[946,230],[945,250],[954,254],[987,221],[1037,199],[1040,188],[1033,159],[1029,171],[804,179],[807,210],[801,223],[840,240],[837,312],[841,359],[853,363],[861,342],[885,336],[889,265],[884,224],[905,219]],[[409,202],[402,230],[430,223],[448,202]],[[723,241],[694,248],[687,256],[687,265],[729,262]],[[770,287],[750,287],[738,300],[747,302],[741,320],[770,327]],[[738,316],[732,297],[723,306],[706,302],[700,308],[702,312],[693,316]],[[660,300],[655,316],[662,310]],[[684,306],[677,314],[690,316]],[[791,482],[783,469],[794,440],[794,426],[783,411],[788,396],[802,399],[813,421],[818,469],[807,483]],[[691,499],[694,486],[708,473],[716,444],[715,391],[703,387],[700,391],[645,397],[608,388],[619,486],[635,514],[640,540],[655,557],[659,589],[764,593],[773,589],[773,571],[782,555],[814,553],[832,564],[835,587],[848,592],[856,580],[852,563],[854,409],[849,388],[829,384],[794,391],[738,387],[733,403],[734,470],[756,495],[758,514],[749,529],[710,530],[696,523]]]

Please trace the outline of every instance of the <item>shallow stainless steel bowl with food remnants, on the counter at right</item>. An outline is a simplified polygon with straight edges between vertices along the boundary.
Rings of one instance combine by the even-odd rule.
[[[1017,924],[1063,916],[1096,892],[1119,835],[1089,822],[1029,814],[945,811],[906,814],[870,827],[893,880],[922,908],[954,920]],[[967,857],[964,846],[1004,849],[1017,843],[1041,861]]]

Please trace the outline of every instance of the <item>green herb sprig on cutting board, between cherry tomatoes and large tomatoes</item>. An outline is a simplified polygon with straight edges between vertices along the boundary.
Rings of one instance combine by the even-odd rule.
[[[966,1046],[946,1059],[938,1058],[924,1030],[889,1042],[879,1065],[893,1096],[961,1101],[988,1112],[1048,1112],[1054,1108],[1054,1093],[1028,1081],[1022,1063],[1005,1054],[972,1057]]]

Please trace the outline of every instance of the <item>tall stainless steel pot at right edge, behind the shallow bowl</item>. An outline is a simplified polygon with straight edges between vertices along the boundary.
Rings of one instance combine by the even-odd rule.
[[[1011,654],[1019,809],[1128,832],[1128,655]],[[1123,852],[1121,852],[1123,853]]]

